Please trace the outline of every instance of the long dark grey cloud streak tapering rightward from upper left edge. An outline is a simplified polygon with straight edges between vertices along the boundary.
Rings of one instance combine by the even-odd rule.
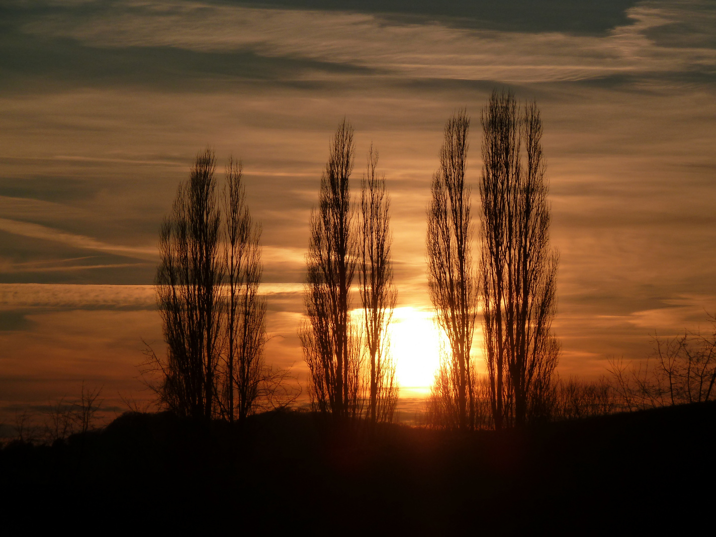
[[[225,92],[237,80],[298,83],[308,73],[369,74],[374,69],[250,50],[197,52],[176,47],[88,47],[75,39],[0,35],[0,91],[55,92],[67,87],[144,87],[167,92]]]

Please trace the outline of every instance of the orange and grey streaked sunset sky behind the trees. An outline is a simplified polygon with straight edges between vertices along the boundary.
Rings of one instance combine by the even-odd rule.
[[[495,88],[536,99],[543,118],[559,373],[598,377],[610,358],[647,357],[651,335],[710,329],[711,1],[4,1],[0,408],[82,382],[107,408],[148,397],[137,364],[142,341],[163,352],[158,231],[207,146],[220,182],[230,155],[243,160],[263,225],[266,360],[304,382],[309,213],[344,117],[354,192],[371,143],[387,178],[398,377],[404,395],[424,393],[437,363],[430,178],[445,121],[465,107],[478,215],[480,110]]]

